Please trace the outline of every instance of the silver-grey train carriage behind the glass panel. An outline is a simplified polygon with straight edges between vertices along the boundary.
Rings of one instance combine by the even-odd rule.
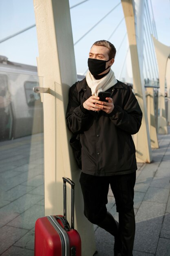
[[[37,67],[0,56],[1,141],[42,132],[42,102],[34,86],[39,86]]]

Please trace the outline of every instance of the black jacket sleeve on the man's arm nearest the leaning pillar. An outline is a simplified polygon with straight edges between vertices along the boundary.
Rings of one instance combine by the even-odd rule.
[[[69,90],[66,124],[73,133],[82,133],[89,118],[89,111],[81,105],[75,83]]]

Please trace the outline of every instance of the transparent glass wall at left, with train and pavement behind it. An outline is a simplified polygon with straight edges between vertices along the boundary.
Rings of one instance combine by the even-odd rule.
[[[43,99],[33,92],[43,78],[22,73],[0,71],[2,256],[33,256],[35,221],[44,216]]]

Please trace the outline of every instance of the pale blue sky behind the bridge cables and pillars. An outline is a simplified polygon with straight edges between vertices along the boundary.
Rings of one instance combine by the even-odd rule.
[[[147,1],[150,7],[150,0]],[[79,2],[82,2],[82,0],[69,0],[70,6]],[[151,0],[151,2],[158,40],[170,46],[170,0]],[[119,3],[120,0],[88,0],[71,9],[74,43]],[[123,10],[121,4],[119,4],[99,25],[75,45],[77,73],[86,71],[88,52],[91,45],[96,40],[108,40],[122,18]],[[0,0],[0,40],[33,24],[35,24],[35,15],[32,0]],[[113,67],[116,76],[119,75],[122,60],[126,56],[128,49],[128,39],[125,34],[126,24],[123,20],[119,29],[109,39],[119,49]],[[124,36],[125,40],[119,48]],[[9,61],[36,65],[36,56],[38,56],[36,28],[34,27],[0,43],[0,55],[7,56]]]

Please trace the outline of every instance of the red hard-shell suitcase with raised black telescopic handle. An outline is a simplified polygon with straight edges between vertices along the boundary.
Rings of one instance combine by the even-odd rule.
[[[66,218],[66,182],[71,184],[71,227]],[[81,256],[81,239],[74,229],[74,186],[63,177],[64,216],[46,216],[35,222],[34,256]]]

